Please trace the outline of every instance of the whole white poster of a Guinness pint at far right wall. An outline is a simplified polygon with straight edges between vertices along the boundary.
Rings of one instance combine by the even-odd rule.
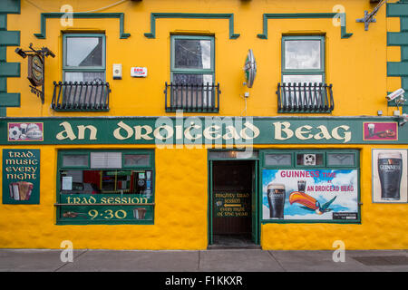
[[[404,203],[407,198],[407,150],[373,150],[373,202]]]

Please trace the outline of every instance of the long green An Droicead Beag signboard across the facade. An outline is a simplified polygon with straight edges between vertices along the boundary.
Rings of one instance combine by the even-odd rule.
[[[397,117],[0,118],[0,144],[406,144]]]

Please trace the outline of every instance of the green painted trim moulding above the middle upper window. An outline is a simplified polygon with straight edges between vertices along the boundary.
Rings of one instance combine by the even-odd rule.
[[[151,32],[144,34],[147,38],[156,38],[156,19],[159,18],[191,18],[191,19],[228,19],[229,39],[237,39],[240,34],[234,34],[234,14],[214,13],[151,13]]]

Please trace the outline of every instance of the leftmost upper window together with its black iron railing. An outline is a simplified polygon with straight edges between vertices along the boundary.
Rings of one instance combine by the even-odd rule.
[[[53,82],[55,111],[109,111],[104,34],[63,34],[63,82]]]

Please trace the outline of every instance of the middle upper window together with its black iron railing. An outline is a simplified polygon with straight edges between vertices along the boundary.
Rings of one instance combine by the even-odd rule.
[[[215,84],[214,37],[171,36],[170,84],[166,82],[166,111],[219,111]]]

